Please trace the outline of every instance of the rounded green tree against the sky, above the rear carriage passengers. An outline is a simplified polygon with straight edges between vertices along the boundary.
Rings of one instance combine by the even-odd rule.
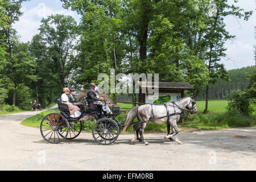
[[[75,46],[79,27],[72,16],[59,14],[43,18],[41,22],[40,33],[31,43],[32,52],[38,63],[51,72],[53,80],[62,87],[69,86],[77,65]]]

